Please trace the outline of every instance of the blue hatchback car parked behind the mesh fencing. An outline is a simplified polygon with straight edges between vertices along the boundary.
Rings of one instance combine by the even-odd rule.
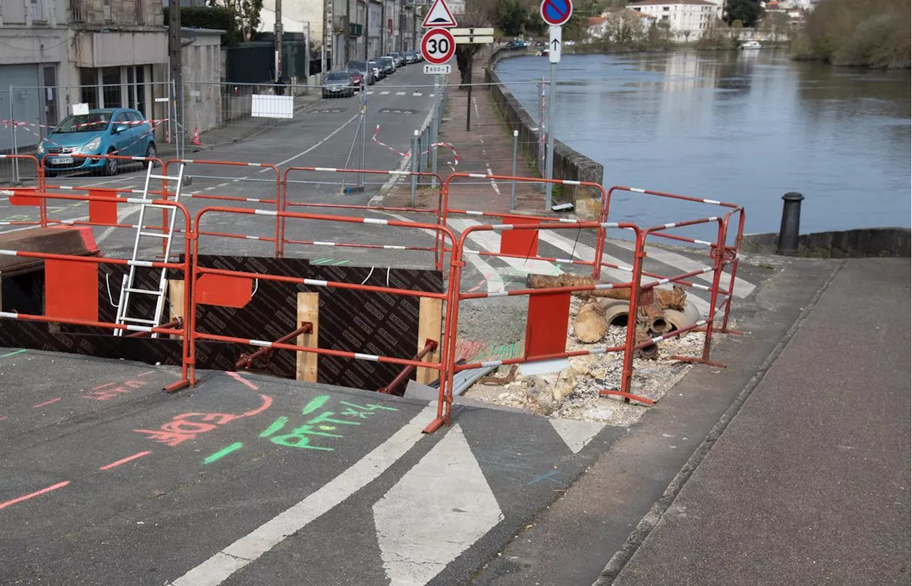
[[[89,159],[83,155],[155,157],[152,128],[139,110],[132,108],[92,109],[88,114],[67,116],[47,133],[38,145],[38,157],[48,175],[59,171],[117,173],[119,159]]]

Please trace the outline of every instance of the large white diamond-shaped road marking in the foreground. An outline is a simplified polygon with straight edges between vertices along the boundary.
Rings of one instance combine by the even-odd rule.
[[[502,520],[472,448],[453,426],[374,505],[390,586],[428,583]]]

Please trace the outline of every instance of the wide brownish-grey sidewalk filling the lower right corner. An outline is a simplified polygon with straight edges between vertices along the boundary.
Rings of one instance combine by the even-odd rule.
[[[912,583],[910,298],[912,260],[846,262],[598,584]]]

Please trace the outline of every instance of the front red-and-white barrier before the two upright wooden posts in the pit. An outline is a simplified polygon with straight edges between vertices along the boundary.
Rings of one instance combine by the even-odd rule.
[[[445,226],[439,226],[436,224],[430,223],[418,223],[411,221],[396,221],[396,220],[379,220],[376,218],[360,218],[360,217],[349,217],[349,216],[332,216],[326,214],[312,214],[312,213],[297,213],[290,211],[272,211],[272,210],[242,210],[237,208],[227,208],[219,206],[211,206],[203,208],[196,214],[196,217],[193,220],[193,231],[202,236],[210,234],[210,232],[202,231],[200,225],[202,219],[206,215],[222,213],[222,214],[233,214],[233,215],[264,215],[264,216],[275,216],[276,218],[282,218],[285,220],[305,220],[305,221],[320,221],[320,222],[337,222],[343,224],[361,224],[368,226],[386,226],[386,227],[397,227],[402,229],[408,229],[413,231],[435,231],[440,232],[443,235],[444,239],[449,239],[451,246],[456,242],[455,235],[451,230]],[[223,234],[218,234],[223,236]],[[450,316],[450,307],[452,301],[455,298],[456,289],[457,289],[457,280],[452,278],[452,275],[449,275],[447,279],[447,290],[444,293],[433,293],[433,292],[424,292],[424,291],[413,291],[407,289],[398,289],[395,287],[382,287],[377,285],[367,285],[364,283],[343,283],[337,281],[326,281],[326,280],[317,280],[317,279],[308,279],[303,277],[293,277],[287,275],[278,275],[278,274],[269,274],[264,272],[242,272],[242,271],[229,271],[224,269],[216,269],[202,266],[200,261],[200,239],[193,239],[192,246],[192,285],[191,289],[196,291],[198,288],[199,280],[203,275],[214,275],[219,277],[231,278],[231,279],[243,279],[243,280],[264,280],[264,281],[274,281],[281,283],[295,283],[311,287],[318,288],[327,288],[327,289],[337,289],[337,290],[353,290],[361,291],[365,293],[387,293],[389,295],[407,295],[417,298],[428,298],[428,299],[437,299],[443,302],[444,306],[447,308],[444,310],[446,317],[444,318],[444,332],[455,333],[455,327],[449,323]],[[366,282],[367,280],[365,280]],[[422,356],[414,357],[399,357],[399,356],[381,356],[381,355],[370,355],[363,352],[358,352],[358,350],[352,351],[341,351],[333,350],[328,348],[319,348],[316,344],[311,345],[301,345],[301,344],[290,344],[289,336],[291,334],[286,334],[282,336],[281,340],[285,341],[268,341],[268,340],[256,340],[252,338],[242,338],[236,336],[227,336],[221,334],[212,334],[199,331],[196,324],[196,306],[199,303],[197,296],[193,296],[190,304],[190,325],[189,332],[191,335],[192,343],[190,347],[190,365],[191,365],[191,380],[192,380],[192,365],[195,364],[195,342],[198,340],[208,340],[212,342],[223,342],[223,343],[232,343],[232,344],[244,344],[257,348],[270,348],[275,350],[286,350],[291,352],[303,352],[310,353],[312,355],[328,355],[328,356],[337,356],[341,358],[347,358],[351,360],[367,360],[370,362],[378,363],[387,363],[392,365],[401,365],[411,368],[429,368],[436,370],[440,373],[440,381],[452,380],[451,373],[449,372],[449,367],[447,363],[443,360],[428,361],[424,362],[421,360]],[[298,324],[299,326],[305,326],[305,324]],[[298,328],[295,328],[293,334],[302,333]],[[434,341],[440,344],[440,355],[446,356],[449,355],[450,348],[448,346],[448,336],[444,334],[442,339]],[[316,382],[316,381],[314,381]],[[395,382],[395,381],[394,381]],[[440,388],[440,402],[438,404],[438,415],[437,418],[430,424],[426,429],[427,432],[432,432],[437,429],[444,423],[448,423],[450,420],[450,406],[451,402],[444,402],[443,397],[446,396],[448,392],[447,389],[441,386]],[[450,391],[451,396],[451,391]]]

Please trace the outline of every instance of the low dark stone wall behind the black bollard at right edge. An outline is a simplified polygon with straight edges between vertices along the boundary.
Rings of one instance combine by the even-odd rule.
[[[743,252],[772,254],[776,252],[779,234],[748,234],[741,244]],[[824,259],[870,257],[912,258],[912,229],[865,228],[802,234],[798,237],[798,254]]]

